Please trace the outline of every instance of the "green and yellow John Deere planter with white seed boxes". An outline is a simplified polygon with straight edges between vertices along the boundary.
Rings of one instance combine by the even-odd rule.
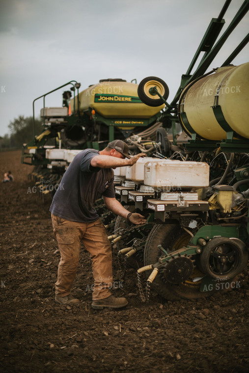
[[[155,76],[138,85],[100,80],[82,92],[72,80],[55,89],[72,86],[58,108],[45,107],[51,92],[37,98],[44,132],[24,145],[22,161],[36,166],[30,178],[40,195],[53,193],[82,149],[102,150],[119,138],[131,155],[146,153],[114,170],[116,198],[146,224],[133,226],[102,199],[96,203],[123,273],[129,265],[137,270],[142,301],[152,288],[169,300],[236,289],[248,263],[249,62],[232,62],[249,36],[219,68],[209,67],[249,9],[246,0],[218,39],[229,3],[211,20],[170,103],[166,82]]]

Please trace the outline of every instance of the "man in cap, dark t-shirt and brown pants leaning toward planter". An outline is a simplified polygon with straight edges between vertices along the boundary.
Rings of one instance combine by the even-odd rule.
[[[71,295],[80,256],[81,241],[90,253],[94,277],[92,307],[120,308],[127,305],[125,298],[111,295],[112,255],[106,230],[93,204],[100,196],[113,213],[143,224],[145,218],[130,213],[116,199],[112,168],[131,166],[144,153],[128,155],[129,148],[121,140],[111,141],[102,150],[85,149],[77,154],[66,170],[50,207],[55,238],[60,250],[58,276],[55,283],[55,302],[79,303]]]

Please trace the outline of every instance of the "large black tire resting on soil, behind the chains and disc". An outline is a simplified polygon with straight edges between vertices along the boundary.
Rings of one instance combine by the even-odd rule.
[[[188,244],[190,239],[190,234],[182,229],[179,224],[156,224],[152,228],[144,247],[144,265],[157,263],[161,256],[165,256],[164,252],[158,247],[159,244],[169,254]],[[197,257],[197,255],[192,256],[191,259],[194,260]],[[218,291],[215,286],[212,286],[210,291],[200,291],[201,279],[205,275],[199,270],[197,263],[195,261],[196,267],[189,278],[178,284],[167,281],[164,270],[160,270],[152,283],[154,290],[167,300],[197,299],[214,294]],[[226,280],[226,288],[220,286],[219,292],[224,293],[231,289],[230,283],[232,280],[234,279]]]

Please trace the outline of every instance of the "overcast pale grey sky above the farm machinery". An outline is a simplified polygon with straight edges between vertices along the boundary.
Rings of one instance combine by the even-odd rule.
[[[81,90],[100,79],[160,77],[170,101],[212,18],[225,0],[0,0],[0,135],[35,98],[70,81]],[[232,0],[229,25],[243,0]],[[219,67],[247,35],[249,14],[210,68]],[[249,61],[249,46],[234,59]],[[69,86],[70,87],[70,86]],[[67,89],[67,87],[65,88]],[[62,105],[57,91],[46,106]],[[35,104],[38,117],[42,99]],[[32,134],[30,134],[30,139]]]

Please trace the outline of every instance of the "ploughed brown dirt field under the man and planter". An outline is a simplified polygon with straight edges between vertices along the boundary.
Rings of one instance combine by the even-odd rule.
[[[118,278],[125,309],[91,308],[91,266],[82,252],[73,294],[59,306],[54,283],[59,252],[49,202],[29,192],[31,167],[21,152],[0,153],[0,372],[249,372],[249,267],[238,287],[197,301],[138,296],[136,274]],[[118,283],[118,281],[121,281]]]

